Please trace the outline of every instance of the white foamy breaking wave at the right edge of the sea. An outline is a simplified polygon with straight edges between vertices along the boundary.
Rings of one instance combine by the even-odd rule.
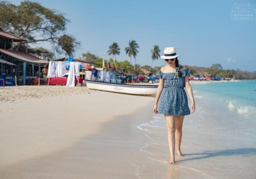
[[[238,106],[237,104],[234,104],[234,102],[229,101],[228,108],[240,115],[246,115],[248,117],[256,115],[256,108],[253,106]]]

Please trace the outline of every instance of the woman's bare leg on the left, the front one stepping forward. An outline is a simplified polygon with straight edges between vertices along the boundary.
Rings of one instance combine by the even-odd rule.
[[[168,143],[169,143],[169,150],[171,154],[171,159],[169,164],[174,165],[175,163],[175,156],[174,156],[174,150],[175,150],[175,116],[174,115],[164,115],[166,118],[166,124],[168,129]]]

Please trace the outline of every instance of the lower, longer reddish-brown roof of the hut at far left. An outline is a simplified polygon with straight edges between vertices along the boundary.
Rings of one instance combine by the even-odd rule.
[[[6,49],[0,49],[0,52],[3,52],[6,55],[12,56],[22,61],[35,63],[35,64],[48,64],[49,61],[42,60],[40,58],[35,57],[34,55],[30,55],[26,52],[12,51]]]

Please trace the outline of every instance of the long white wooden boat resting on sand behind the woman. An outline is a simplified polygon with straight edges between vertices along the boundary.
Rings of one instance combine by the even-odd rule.
[[[117,84],[85,80],[88,89],[119,92],[132,95],[156,95],[157,85]]]

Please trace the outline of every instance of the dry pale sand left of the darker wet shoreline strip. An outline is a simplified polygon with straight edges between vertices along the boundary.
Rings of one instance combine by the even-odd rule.
[[[35,93],[37,95],[31,95]],[[54,169],[42,174],[45,167],[55,167],[52,165],[54,157],[47,162],[47,156],[58,155],[81,141],[85,142],[86,136],[99,133],[106,122],[119,118],[119,115],[136,113],[154,100],[151,97],[87,90],[85,87],[7,87],[1,89],[1,94],[1,178],[70,178]],[[87,156],[90,146],[86,144],[80,151],[81,156],[77,157]],[[70,157],[66,164],[61,162],[65,157]],[[93,162],[87,161],[81,166],[79,158],[73,157],[72,154],[62,156],[58,162],[81,171],[85,166],[88,169],[89,163]],[[103,162],[102,157],[99,159]],[[75,163],[71,166],[69,163],[72,161]],[[66,169],[61,170],[64,172]],[[133,174],[131,171],[128,173]]]

